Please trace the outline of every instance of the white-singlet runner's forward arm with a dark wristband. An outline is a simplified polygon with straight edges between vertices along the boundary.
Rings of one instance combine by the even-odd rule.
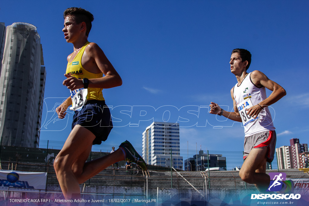
[[[239,111],[236,106],[236,101],[234,99],[233,90],[234,90],[234,87],[231,89],[231,97],[233,99],[234,112],[223,110],[222,116],[225,116],[226,118],[233,120],[233,121],[241,122],[242,120],[241,120]],[[210,106],[210,111],[209,111],[210,114],[220,114],[221,113],[221,108],[218,106],[218,104],[211,102],[209,106]]]

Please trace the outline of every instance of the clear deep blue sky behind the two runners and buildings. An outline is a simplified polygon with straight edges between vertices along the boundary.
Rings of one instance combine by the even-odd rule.
[[[271,110],[277,147],[289,145],[291,138],[308,143],[308,1],[11,0],[0,6],[0,22],[6,26],[31,23],[40,34],[47,70],[42,125],[52,118],[55,103],[69,96],[62,81],[73,45],[66,43],[61,31],[62,14],[75,6],[94,15],[88,40],[103,49],[123,79],[122,86],[103,90],[108,105],[180,109],[214,101],[231,111],[230,89],[236,78],[229,59],[232,49],[246,48],[252,53],[249,71],[264,72],[287,91]],[[139,120],[116,110],[112,115],[128,123]],[[155,121],[167,120],[166,115],[162,117],[159,110],[147,113]],[[223,117],[207,114],[205,109],[200,115],[198,121],[202,124],[207,119],[206,127],[184,127],[188,123],[180,122],[180,149],[187,149],[188,141],[189,149],[196,149],[197,143],[203,150],[243,151],[240,123],[222,121]],[[171,119],[178,116],[197,119],[183,110],[180,115],[171,111]],[[72,115],[52,121],[42,129],[40,140],[65,141],[71,121]],[[115,127],[104,144],[118,145],[127,139],[142,147],[142,132],[151,122]]]

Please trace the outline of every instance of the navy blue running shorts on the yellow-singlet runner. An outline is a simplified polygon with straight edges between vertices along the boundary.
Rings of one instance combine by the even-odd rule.
[[[76,124],[95,135],[92,145],[105,141],[113,128],[111,113],[104,100],[88,100],[81,110],[75,111],[72,129]]]

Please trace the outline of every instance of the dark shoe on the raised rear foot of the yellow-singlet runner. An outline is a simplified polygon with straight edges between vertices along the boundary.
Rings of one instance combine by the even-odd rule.
[[[129,162],[134,162],[140,166],[142,170],[147,171],[146,162],[143,160],[141,155],[137,153],[129,141],[126,140],[122,142],[119,147],[125,150],[125,161],[129,160]]]

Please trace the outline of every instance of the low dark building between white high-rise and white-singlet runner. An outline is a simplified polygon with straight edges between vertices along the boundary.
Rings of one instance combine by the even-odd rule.
[[[220,167],[226,170],[226,158],[222,154],[209,154],[200,150],[198,154],[193,155],[193,158],[184,160],[185,171],[205,171],[209,168]]]

